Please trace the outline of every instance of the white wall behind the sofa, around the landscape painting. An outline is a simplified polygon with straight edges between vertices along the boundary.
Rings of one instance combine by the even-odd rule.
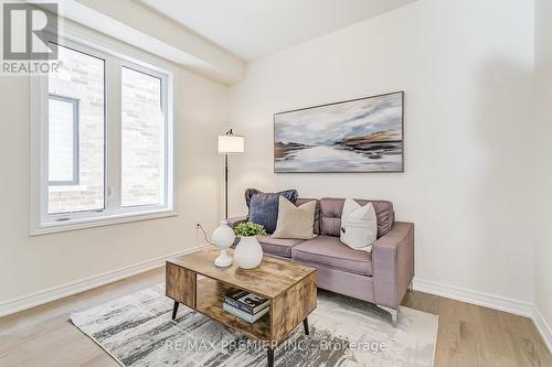
[[[420,0],[252,62],[231,89],[243,191],[385,198],[416,224],[416,278],[533,300],[532,2]],[[405,173],[274,174],[273,114],[405,90]]]

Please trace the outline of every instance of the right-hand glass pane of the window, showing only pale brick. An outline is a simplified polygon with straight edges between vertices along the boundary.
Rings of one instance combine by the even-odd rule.
[[[121,205],[164,203],[161,79],[121,69]]]

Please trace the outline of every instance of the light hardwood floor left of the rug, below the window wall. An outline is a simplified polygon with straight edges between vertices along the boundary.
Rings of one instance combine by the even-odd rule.
[[[71,312],[94,307],[162,281],[164,269],[157,269],[0,319],[0,366],[119,366],[73,326],[68,320]]]

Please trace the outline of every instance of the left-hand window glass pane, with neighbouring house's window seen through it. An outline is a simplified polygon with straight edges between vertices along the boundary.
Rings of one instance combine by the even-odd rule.
[[[103,209],[104,61],[61,45],[59,58],[49,74],[49,213]],[[77,105],[71,112],[70,101]],[[71,184],[57,182],[70,175]]]

